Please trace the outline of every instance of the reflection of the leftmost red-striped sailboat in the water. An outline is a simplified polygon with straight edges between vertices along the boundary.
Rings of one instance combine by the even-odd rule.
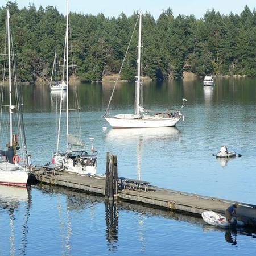
[[[31,191],[28,188],[10,187],[5,185],[0,185],[0,207],[7,209],[9,211],[9,226],[10,226],[10,255],[15,255],[17,250],[15,245],[15,234],[17,230],[15,229],[15,209],[19,208],[20,203],[26,202],[26,209],[23,217],[23,224],[19,233],[22,234],[21,247],[18,248],[19,254],[26,255],[27,249],[27,235],[28,235],[28,217],[30,216],[31,207]]]

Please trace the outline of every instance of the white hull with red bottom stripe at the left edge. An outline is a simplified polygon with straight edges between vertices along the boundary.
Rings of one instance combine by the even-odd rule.
[[[26,171],[0,171],[0,184],[26,187],[28,172]]]

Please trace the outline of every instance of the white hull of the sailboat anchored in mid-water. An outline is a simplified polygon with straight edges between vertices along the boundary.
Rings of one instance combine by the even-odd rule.
[[[143,117],[137,119],[121,119],[105,117],[113,128],[150,128],[150,127],[172,127],[180,121],[181,115],[175,118]]]

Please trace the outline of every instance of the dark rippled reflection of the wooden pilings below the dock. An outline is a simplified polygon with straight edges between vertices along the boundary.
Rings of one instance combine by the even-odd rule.
[[[105,200],[106,241],[110,251],[118,247],[118,205],[113,200]]]

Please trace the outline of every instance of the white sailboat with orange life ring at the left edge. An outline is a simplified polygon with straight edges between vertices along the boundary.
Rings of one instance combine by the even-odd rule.
[[[0,134],[1,134],[1,146],[6,141],[3,141],[3,135],[7,134],[7,130],[4,129],[3,126],[9,125],[9,138],[10,141],[7,143],[7,150],[0,150],[0,184],[5,185],[18,185],[20,187],[26,186],[29,176],[28,170],[28,154],[27,154],[27,146],[26,146],[26,137],[24,133],[24,125],[23,125],[23,104],[21,102],[20,92],[18,88],[18,81],[16,79],[16,67],[14,60],[14,50],[13,50],[13,40],[11,38],[10,31],[10,14],[9,10],[7,10],[7,18],[6,18],[6,26],[7,26],[7,56],[8,56],[8,70],[9,70],[9,104],[3,104],[4,97],[4,80],[5,80],[5,72],[3,72],[3,81],[1,88],[1,114],[0,114]],[[6,55],[6,54],[5,54]],[[13,56],[13,58],[11,58]],[[13,64],[13,74],[11,73],[11,63]],[[3,67],[5,67],[5,63]],[[5,70],[4,70],[5,71]],[[13,75],[13,80],[12,80]],[[16,102],[13,102],[13,94],[15,94]],[[3,114],[5,108],[8,108],[9,115]],[[13,115],[16,114],[17,118],[14,120]],[[8,119],[5,121],[5,117]],[[17,132],[18,134],[13,134],[13,124],[16,121],[18,123]],[[18,143],[18,139],[20,140],[20,146]],[[18,155],[18,150],[22,151],[22,161],[21,157]],[[20,163],[23,162],[23,163]]]

